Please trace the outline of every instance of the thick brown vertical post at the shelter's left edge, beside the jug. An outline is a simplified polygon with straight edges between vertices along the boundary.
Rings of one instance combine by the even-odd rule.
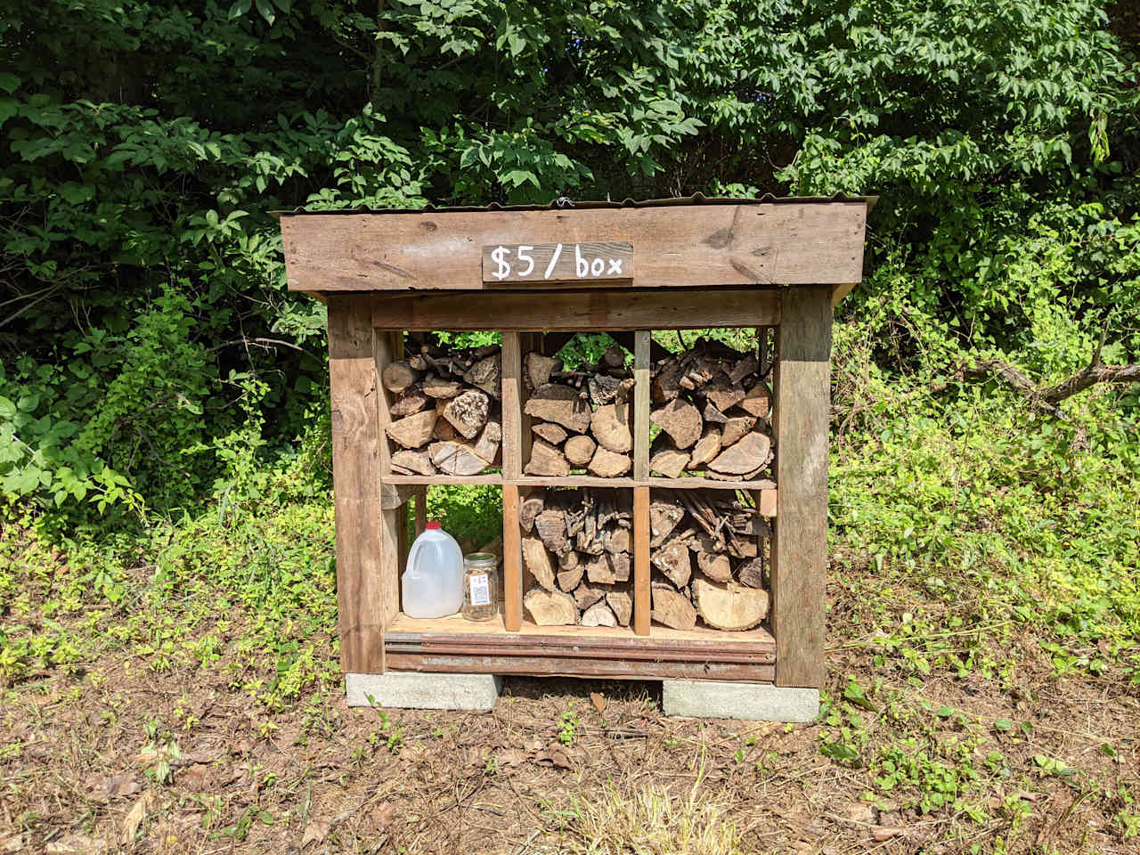
[[[341,669],[382,674],[386,603],[381,572],[380,377],[366,296],[328,298],[328,376]]]

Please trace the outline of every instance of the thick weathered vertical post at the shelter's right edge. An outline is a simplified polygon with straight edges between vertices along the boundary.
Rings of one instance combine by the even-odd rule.
[[[823,683],[828,571],[831,288],[783,292],[776,332],[776,489],[772,628],[776,685]]]

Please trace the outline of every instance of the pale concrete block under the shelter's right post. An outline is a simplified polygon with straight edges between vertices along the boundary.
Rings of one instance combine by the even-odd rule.
[[[820,690],[719,679],[662,679],[661,707],[667,716],[811,722],[820,712]]]

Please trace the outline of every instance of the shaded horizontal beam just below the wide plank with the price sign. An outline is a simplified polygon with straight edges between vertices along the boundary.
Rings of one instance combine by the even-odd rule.
[[[378,329],[510,332],[776,326],[780,299],[776,288],[384,295],[373,300],[372,323]]]

